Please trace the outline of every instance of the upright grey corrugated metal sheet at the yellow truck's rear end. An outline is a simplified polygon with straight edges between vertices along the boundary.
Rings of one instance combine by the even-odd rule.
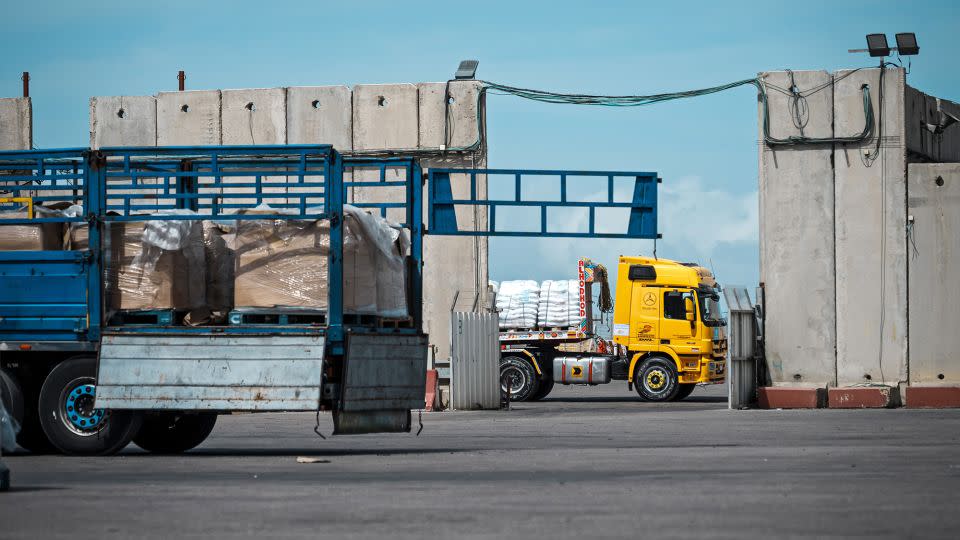
[[[451,408],[499,408],[499,316],[496,313],[454,312],[451,322]]]

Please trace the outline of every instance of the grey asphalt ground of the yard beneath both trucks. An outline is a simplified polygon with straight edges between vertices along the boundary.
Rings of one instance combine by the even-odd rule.
[[[224,416],[180,456],[5,455],[0,538],[960,536],[960,410],[728,411],[722,387],[650,404],[611,384],[424,414],[419,437],[314,423]]]

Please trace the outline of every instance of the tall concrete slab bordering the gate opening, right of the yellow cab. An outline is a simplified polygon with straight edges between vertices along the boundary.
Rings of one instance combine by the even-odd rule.
[[[786,72],[761,74],[790,87]],[[808,137],[833,135],[833,89],[826,71],[797,71],[807,97]],[[768,89],[770,134],[799,136],[790,98]],[[762,141],[763,108],[760,107]],[[766,294],[766,350],[775,385],[824,386],[836,380],[834,184],[830,145],[760,146],[760,281]]]

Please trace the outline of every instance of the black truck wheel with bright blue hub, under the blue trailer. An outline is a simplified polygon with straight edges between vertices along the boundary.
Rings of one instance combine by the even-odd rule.
[[[64,454],[116,454],[140,429],[137,411],[93,409],[96,375],[96,359],[71,358],[50,370],[40,388],[40,425]]]

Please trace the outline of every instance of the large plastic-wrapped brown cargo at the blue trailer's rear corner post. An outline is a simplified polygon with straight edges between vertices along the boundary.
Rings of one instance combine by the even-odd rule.
[[[353,206],[344,206],[344,216],[344,312],[406,317],[406,235]],[[234,250],[235,307],[327,308],[329,221],[238,220]]]

